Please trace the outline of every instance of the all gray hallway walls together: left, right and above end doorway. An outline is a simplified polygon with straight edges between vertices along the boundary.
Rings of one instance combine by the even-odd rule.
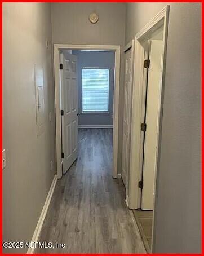
[[[3,3],[3,240],[30,241],[55,174],[52,43],[123,47],[167,3]],[[201,251],[201,4],[169,3],[170,24],[154,252]],[[88,15],[99,14],[91,24]],[[43,24],[43,25],[42,25]],[[125,38],[126,33],[126,38]],[[45,133],[36,136],[34,63],[45,76]],[[48,113],[52,120],[49,122]],[[120,172],[120,170],[119,170]],[[165,235],[164,235],[165,234]],[[7,251],[8,252],[8,251]],[[11,251],[10,251],[11,252]],[[26,250],[17,252],[25,253]]]

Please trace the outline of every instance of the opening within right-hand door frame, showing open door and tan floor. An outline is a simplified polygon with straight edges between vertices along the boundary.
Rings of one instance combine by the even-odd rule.
[[[160,101],[163,30],[147,41],[147,85],[145,89],[143,164],[141,169],[141,209],[133,210],[144,244],[150,251],[152,242],[154,179],[157,161],[158,114]]]

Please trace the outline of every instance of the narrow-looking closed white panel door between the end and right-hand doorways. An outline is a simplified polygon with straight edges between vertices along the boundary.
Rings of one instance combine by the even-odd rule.
[[[132,95],[132,50],[125,52],[125,85],[122,134],[122,180],[127,189],[128,168],[130,160],[130,118]]]

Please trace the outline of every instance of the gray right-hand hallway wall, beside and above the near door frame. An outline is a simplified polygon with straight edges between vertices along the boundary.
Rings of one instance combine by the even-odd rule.
[[[126,42],[167,3],[128,3]],[[201,4],[169,3],[154,253],[201,252]]]

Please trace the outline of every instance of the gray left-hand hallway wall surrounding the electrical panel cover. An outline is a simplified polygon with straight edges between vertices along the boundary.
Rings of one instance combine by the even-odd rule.
[[[50,23],[49,3],[3,3],[3,148],[7,160],[3,169],[3,241],[32,239],[54,178]],[[38,138],[34,63],[43,66],[45,79],[45,131]]]

